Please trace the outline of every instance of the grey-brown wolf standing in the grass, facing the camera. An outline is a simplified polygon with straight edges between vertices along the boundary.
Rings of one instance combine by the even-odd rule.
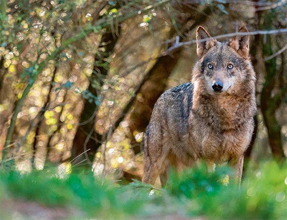
[[[239,32],[248,30],[242,27]],[[199,26],[196,39],[208,37]],[[209,169],[214,163],[231,161],[240,183],[256,114],[249,36],[198,41],[197,55],[191,82],[166,91],[154,106],[145,135],[145,183],[154,184],[160,175],[165,186],[170,165],[180,169],[200,158]],[[215,82],[222,82],[221,92],[213,89]]]

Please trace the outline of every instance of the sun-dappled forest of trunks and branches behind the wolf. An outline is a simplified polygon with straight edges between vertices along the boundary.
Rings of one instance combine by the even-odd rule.
[[[196,28],[228,40],[245,25],[258,113],[243,175],[273,160],[284,173],[286,13],[285,0],[1,0],[2,169],[33,173],[52,165],[60,177],[92,170],[121,184],[140,181],[153,106],[164,91],[190,80]],[[275,191],[274,204],[278,193],[286,194]]]

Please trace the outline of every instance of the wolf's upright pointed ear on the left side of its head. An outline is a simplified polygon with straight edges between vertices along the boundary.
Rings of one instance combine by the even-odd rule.
[[[199,58],[206,54],[209,49],[214,47],[216,43],[216,40],[212,38],[207,41],[200,42],[200,40],[204,38],[211,38],[211,35],[203,27],[199,26],[196,30],[196,53]]]

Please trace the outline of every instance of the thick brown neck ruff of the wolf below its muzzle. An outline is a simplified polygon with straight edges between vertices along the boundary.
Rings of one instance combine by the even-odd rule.
[[[236,131],[253,120],[256,113],[255,78],[237,85],[238,91],[220,94],[208,93],[201,80],[198,77],[191,81],[194,85],[192,109],[215,131]]]

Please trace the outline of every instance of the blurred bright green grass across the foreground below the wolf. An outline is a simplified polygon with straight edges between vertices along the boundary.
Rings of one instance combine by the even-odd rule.
[[[286,163],[279,167],[275,162],[251,165],[240,189],[228,181],[232,173],[226,167],[217,167],[214,173],[207,173],[204,166],[172,172],[165,189],[140,182],[121,186],[95,179],[92,173],[60,179],[52,169],[26,174],[2,171],[0,199],[11,206],[20,201],[69,210],[65,219],[287,219],[286,168]],[[15,218],[14,208],[4,207],[0,218]]]

